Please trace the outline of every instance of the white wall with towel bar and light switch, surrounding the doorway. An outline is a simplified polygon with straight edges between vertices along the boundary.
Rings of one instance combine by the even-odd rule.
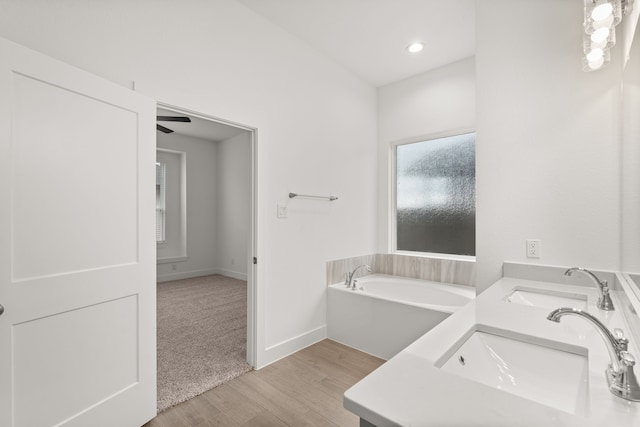
[[[376,91],[232,0],[3,0],[0,36],[258,129],[257,365],[326,335],[325,261],[376,248]],[[335,193],[289,201],[289,191]],[[276,203],[290,203],[276,219]]]

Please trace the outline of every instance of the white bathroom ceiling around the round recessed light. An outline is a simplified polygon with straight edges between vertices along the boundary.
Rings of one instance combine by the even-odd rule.
[[[376,87],[475,54],[475,0],[237,1]]]

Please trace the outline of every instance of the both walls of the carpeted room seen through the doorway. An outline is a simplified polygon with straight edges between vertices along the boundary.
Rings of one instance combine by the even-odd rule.
[[[162,262],[162,258],[181,255],[176,252],[178,218],[170,216],[179,211],[179,180],[171,186],[167,176],[167,243],[158,245],[158,281],[209,274],[247,280],[251,258],[250,133],[225,141],[159,133],[157,145],[185,152],[187,160],[187,259]],[[167,165],[167,175],[170,166],[173,163]]]

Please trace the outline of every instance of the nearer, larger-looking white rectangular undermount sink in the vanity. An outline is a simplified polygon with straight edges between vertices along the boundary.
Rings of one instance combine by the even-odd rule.
[[[585,413],[588,401],[586,354],[580,347],[476,325],[436,366],[579,415]]]

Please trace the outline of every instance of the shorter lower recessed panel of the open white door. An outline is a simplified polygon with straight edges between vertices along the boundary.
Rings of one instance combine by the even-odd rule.
[[[131,295],[14,325],[16,425],[65,420],[135,385],[137,305]]]

